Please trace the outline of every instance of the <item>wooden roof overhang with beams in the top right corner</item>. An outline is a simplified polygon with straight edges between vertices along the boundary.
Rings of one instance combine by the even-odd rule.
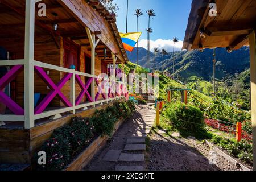
[[[216,0],[217,16],[210,17],[210,0],[193,0],[183,49],[230,47],[249,44],[248,35],[255,29],[255,0]],[[200,37],[203,28],[206,37]],[[203,47],[201,47],[203,46]]]

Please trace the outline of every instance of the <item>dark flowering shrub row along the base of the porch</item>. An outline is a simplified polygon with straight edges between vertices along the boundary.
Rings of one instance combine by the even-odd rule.
[[[97,110],[92,118],[72,118],[71,125],[56,129],[44,142],[40,151],[46,152],[47,165],[40,170],[59,171],[76,158],[97,135],[111,135],[119,118],[131,117],[135,110],[133,102],[115,103],[106,110]],[[38,155],[34,156],[37,163]]]

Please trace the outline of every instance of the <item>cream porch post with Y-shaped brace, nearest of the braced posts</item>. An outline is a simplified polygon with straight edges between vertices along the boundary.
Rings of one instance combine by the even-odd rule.
[[[89,30],[89,28],[85,28],[88,38],[89,38],[89,42],[90,42],[90,47],[92,47],[92,51],[91,51],[91,60],[92,60],[92,75],[93,75],[93,81],[92,81],[92,86],[91,86],[91,96],[93,98],[93,102],[95,102],[95,48],[97,46],[97,44],[100,42],[100,39],[96,40],[96,36],[95,34],[92,34]],[[95,104],[93,105],[93,107],[95,107]]]

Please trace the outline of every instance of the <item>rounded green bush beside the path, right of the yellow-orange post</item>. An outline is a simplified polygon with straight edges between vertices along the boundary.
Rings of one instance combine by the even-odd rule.
[[[200,133],[205,130],[203,113],[196,106],[185,105],[178,101],[175,104],[168,105],[163,114],[172,121],[176,129],[188,133]]]

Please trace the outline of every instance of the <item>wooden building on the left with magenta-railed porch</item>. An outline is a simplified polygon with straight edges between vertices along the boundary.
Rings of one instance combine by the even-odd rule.
[[[0,163],[30,163],[71,117],[127,97],[115,75],[111,93],[98,93],[98,75],[128,61],[115,17],[98,0],[3,0],[0,19],[0,46],[9,52],[0,66],[10,68],[0,78]],[[10,97],[2,92],[9,84]]]

